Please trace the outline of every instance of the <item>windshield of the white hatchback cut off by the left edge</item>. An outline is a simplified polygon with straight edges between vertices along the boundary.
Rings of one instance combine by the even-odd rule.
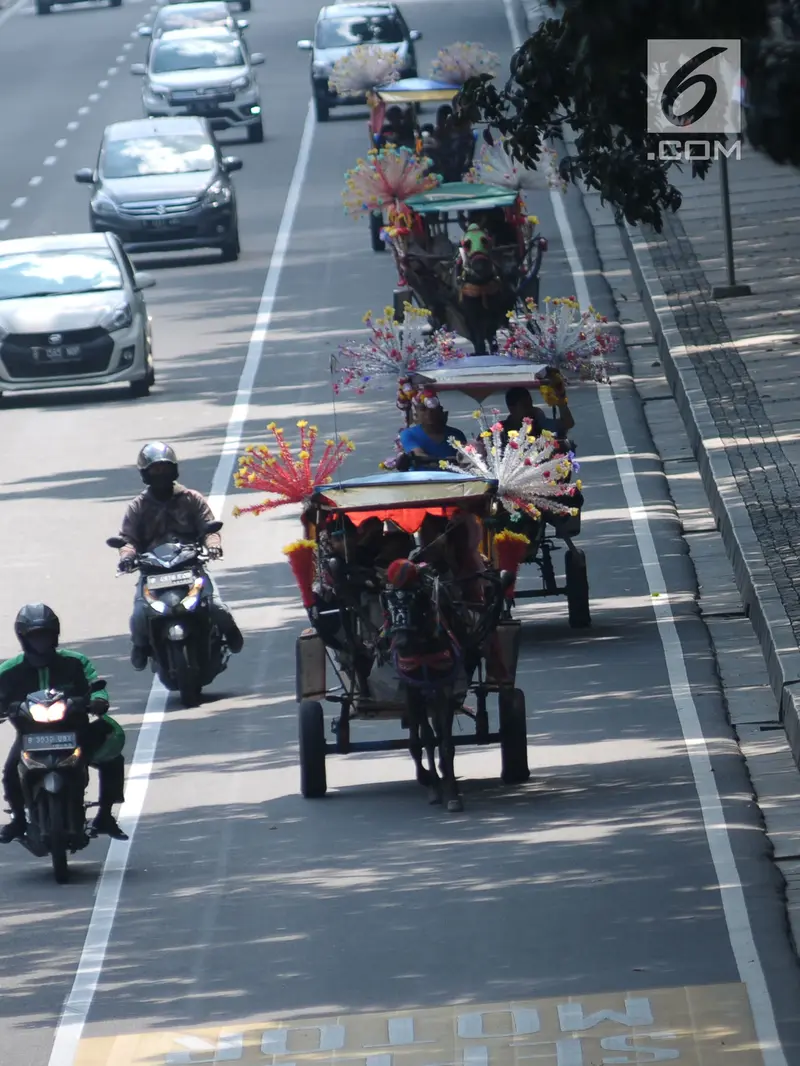
[[[70,296],[123,288],[123,276],[111,252],[26,252],[0,256],[0,300]]]

